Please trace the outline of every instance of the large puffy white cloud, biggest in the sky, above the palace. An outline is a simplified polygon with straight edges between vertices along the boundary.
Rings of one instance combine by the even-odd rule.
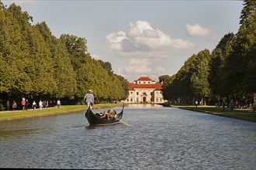
[[[195,45],[185,39],[171,39],[146,21],[130,22],[128,32],[112,32],[106,36],[104,49],[115,56],[165,57],[172,51],[191,49]]]

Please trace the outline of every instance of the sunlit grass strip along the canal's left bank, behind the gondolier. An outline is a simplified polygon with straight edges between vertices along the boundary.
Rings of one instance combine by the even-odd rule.
[[[95,104],[92,109],[102,109],[106,107],[121,107],[123,104]],[[48,107],[43,110],[39,110],[38,108],[33,111],[29,110],[16,110],[16,111],[0,111],[0,121],[10,121],[14,119],[21,119],[26,117],[40,117],[54,114],[64,114],[71,113],[74,111],[82,111],[86,110],[86,105],[63,105],[60,108],[57,107]]]

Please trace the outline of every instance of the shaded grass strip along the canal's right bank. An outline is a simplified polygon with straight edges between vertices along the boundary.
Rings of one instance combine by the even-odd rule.
[[[181,109],[199,111],[206,114],[215,114],[215,115],[220,115],[224,117],[237,118],[244,121],[256,122],[256,113],[254,113],[251,109],[235,109],[231,111],[230,108],[225,108],[225,111],[223,112],[222,107],[215,107],[215,106],[195,107],[195,106],[171,105],[171,107],[178,107]]]

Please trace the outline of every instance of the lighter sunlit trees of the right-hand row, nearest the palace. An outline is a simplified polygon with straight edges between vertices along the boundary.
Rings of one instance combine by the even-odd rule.
[[[171,79],[165,78],[164,98],[191,103],[195,98],[208,97],[209,59],[209,50],[205,49],[192,55]]]

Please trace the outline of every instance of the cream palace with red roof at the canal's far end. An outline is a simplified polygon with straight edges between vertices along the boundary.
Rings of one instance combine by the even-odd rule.
[[[124,103],[127,104],[161,104],[164,103],[162,83],[156,83],[149,77],[140,77],[129,83],[129,95]]]

